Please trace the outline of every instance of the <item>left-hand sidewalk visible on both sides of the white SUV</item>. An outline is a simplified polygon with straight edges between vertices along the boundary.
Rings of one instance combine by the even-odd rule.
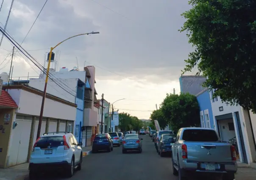
[[[92,146],[82,147],[83,157],[92,152]],[[0,168],[0,180],[27,180],[28,163],[12,166],[7,169]]]

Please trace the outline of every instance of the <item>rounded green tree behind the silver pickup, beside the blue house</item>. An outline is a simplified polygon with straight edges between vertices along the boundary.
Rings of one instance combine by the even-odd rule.
[[[200,126],[200,110],[195,95],[167,94],[161,104],[161,112],[175,132],[179,128]]]

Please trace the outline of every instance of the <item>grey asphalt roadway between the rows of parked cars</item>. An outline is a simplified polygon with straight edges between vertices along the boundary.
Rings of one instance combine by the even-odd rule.
[[[95,153],[83,158],[81,171],[76,171],[69,180],[178,180],[172,174],[170,156],[160,157],[148,135],[143,138],[142,153],[122,154],[122,146],[114,147],[111,153]],[[255,180],[256,169],[239,168],[236,180]],[[67,180],[61,174],[40,176],[41,180]],[[40,179],[40,178],[38,178]],[[209,177],[208,177],[209,179]],[[29,180],[28,176],[25,180]]]

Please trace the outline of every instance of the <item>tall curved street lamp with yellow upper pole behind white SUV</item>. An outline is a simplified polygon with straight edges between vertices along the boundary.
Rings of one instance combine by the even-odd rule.
[[[46,78],[45,78],[45,89],[44,89],[44,94],[43,94],[43,98],[42,98],[42,105],[41,105],[41,111],[40,111],[40,116],[39,116],[39,122],[38,122],[38,129],[37,129],[36,139],[38,139],[39,136],[40,136],[41,126],[42,126],[43,112],[44,112],[44,106],[45,106],[45,95],[46,95],[46,88],[47,88],[49,69],[50,69],[50,62],[51,62],[51,57],[52,57],[53,49],[55,49],[58,45],[64,43],[65,41],[67,41],[67,40],[69,40],[71,38],[75,38],[75,37],[80,36],[80,35],[99,34],[99,33],[100,32],[93,32],[92,31],[91,33],[82,33],[82,34],[78,34],[78,35],[73,35],[73,36],[71,36],[71,37],[69,37],[69,38],[59,42],[56,46],[50,48],[50,54],[49,54],[49,60],[48,60],[48,65],[47,65]]]

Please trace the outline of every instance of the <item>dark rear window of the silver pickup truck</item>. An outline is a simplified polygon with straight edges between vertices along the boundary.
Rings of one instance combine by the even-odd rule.
[[[182,134],[184,141],[193,142],[217,142],[219,141],[215,131],[210,129],[186,129]]]

